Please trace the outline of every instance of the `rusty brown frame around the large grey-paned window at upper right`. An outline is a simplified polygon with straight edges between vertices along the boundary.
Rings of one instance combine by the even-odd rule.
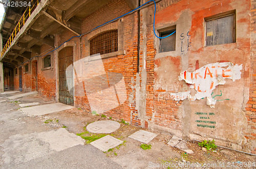
[[[220,19],[220,18],[225,18],[225,17],[228,17],[228,16],[231,16],[233,15],[233,41],[231,43],[222,43],[222,44],[214,44],[214,45],[206,45],[206,41],[207,41],[207,21],[211,21],[211,20],[215,20],[215,19]],[[205,17],[204,18],[204,24],[205,24],[205,39],[204,39],[204,46],[205,47],[210,47],[210,46],[217,46],[217,45],[225,45],[225,44],[232,44],[232,43],[236,43],[237,42],[237,37],[236,37],[236,34],[237,34],[237,25],[236,25],[236,10],[232,10],[232,11],[227,11],[227,12],[223,12],[223,13],[220,13],[220,14],[216,14],[216,15],[212,15],[212,16],[209,16],[209,17]]]

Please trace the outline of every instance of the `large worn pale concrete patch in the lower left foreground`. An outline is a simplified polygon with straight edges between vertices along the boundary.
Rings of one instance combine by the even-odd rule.
[[[4,152],[2,157],[5,164],[9,163],[18,166],[20,163],[83,144],[84,139],[68,132],[64,128],[45,132],[16,134],[10,136],[1,145]]]

